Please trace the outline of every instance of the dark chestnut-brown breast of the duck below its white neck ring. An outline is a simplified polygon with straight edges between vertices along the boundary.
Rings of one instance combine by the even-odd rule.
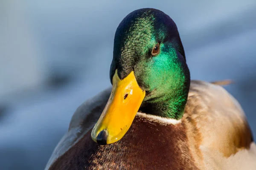
[[[164,126],[145,121],[136,117],[120,141],[105,146],[94,142],[88,131],[50,170],[197,169],[185,124]]]

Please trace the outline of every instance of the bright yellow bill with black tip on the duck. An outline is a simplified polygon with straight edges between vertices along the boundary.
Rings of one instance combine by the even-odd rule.
[[[99,144],[111,144],[120,140],[134,120],[145,97],[132,71],[120,80],[117,70],[113,76],[113,88],[108,103],[93,127],[92,139]]]

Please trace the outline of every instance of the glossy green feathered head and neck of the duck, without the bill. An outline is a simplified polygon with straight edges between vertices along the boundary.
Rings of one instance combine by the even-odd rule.
[[[186,105],[190,74],[177,26],[162,11],[143,8],[128,14],[116,29],[112,83],[134,71],[146,91],[139,111],[180,119]]]

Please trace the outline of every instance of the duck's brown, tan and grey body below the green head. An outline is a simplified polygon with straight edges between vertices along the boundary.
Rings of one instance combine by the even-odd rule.
[[[256,145],[250,127],[238,102],[221,86],[192,81],[181,122],[137,113],[120,141],[99,145],[90,133],[110,92],[103,91],[77,109],[46,169],[255,169]],[[211,106],[216,103],[218,109],[213,112]],[[230,116],[233,121],[227,123]]]

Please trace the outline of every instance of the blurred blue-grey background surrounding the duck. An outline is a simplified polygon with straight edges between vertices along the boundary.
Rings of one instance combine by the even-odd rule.
[[[76,108],[111,85],[118,24],[145,7],[176,22],[192,79],[235,81],[256,136],[255,0],[0,0],[0,170],[44,169]]]

